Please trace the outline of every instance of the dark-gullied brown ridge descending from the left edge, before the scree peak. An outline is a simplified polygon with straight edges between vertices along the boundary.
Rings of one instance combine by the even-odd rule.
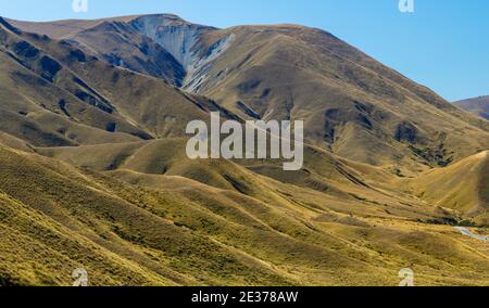
[[[70,41],[3,25],[0,42],[2,130],[34,145],[184,136],[186,123],[208,120],[208,111],[227,114],[211,100],[115,67]]]

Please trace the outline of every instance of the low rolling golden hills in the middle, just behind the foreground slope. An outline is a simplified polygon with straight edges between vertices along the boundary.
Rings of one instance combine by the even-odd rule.
[[[394,176],[372,167],[358,168],[354,163],[341,162],[319,149],[306,146],[304,168],[290,172],[283,170],[280,162],[273,161],[191,161],[186,157],[185,143],[185,139],[166,139],[35,151],[97,171],[130,170],[141,177],[183,177],[265,203],[292,201],[306,208],[362,217],[424,221],[441,218],[435,206],[402,193],[396,187]]]

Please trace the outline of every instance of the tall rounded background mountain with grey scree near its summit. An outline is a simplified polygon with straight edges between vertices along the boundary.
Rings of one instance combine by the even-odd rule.
[[[127,37],[139,33],[181,64],[185,78],[174,81],[181,89],[212,98],[242,118],[304,119],[309,142],[356,162],[399,166],[412,175],[489,147],[487,121],[319,29],[216,29],[168,14],[12,23],[105,56],[110,53],[101,42],[106,40],[97,38],[112,33],[109,25]],[[100,30],[103,36],[86,35]],[[126,41],[133,46],[133,39]]]

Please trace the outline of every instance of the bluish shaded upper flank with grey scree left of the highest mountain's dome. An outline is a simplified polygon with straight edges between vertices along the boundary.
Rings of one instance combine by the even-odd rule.
[[[76,42],[113,65],[178,87],[183,86],[193,60],[191,53],[199,36],[215,29],[171,14],[53,23],[9,22],[26,31]]]

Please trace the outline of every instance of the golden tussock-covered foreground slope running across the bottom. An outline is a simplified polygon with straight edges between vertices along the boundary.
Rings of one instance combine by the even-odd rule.
[[[471,247],[449,227],[356,215],[349,202],[346,214],[329,207],[339,198],[288,195],[246,172],[261,192],[127,169],[82,174],[3,147],[0,156],[3,284],[70,284],[75,267],[114,285],[397,285],[405,266],[419,284],[489,280],[485,244]]]

